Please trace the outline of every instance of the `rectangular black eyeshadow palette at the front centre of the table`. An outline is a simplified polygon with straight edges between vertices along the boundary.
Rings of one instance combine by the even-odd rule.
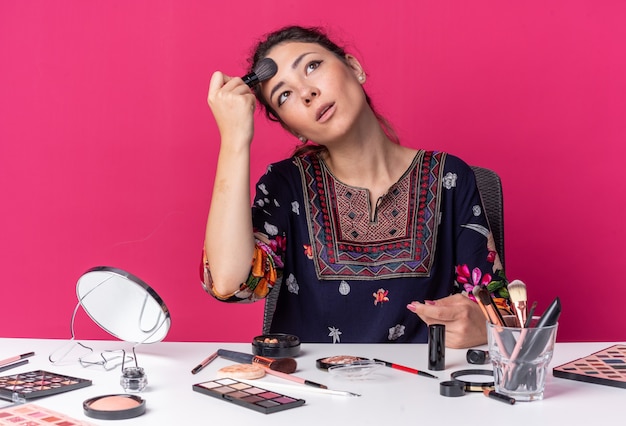
[[[193,385],[193,390],[265,414],[299,407],[305,402],[304,399],[292,398],[231,378],[198,383]]]

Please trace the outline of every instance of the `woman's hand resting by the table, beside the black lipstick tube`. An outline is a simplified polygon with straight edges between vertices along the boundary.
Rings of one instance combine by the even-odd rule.
[[[445,325],[446,346],[449,348],[470,348],[487,343],[485,316],[478,304],[465,295],[453,294],[426,303],[412,302],[407,309],[428,325]]]

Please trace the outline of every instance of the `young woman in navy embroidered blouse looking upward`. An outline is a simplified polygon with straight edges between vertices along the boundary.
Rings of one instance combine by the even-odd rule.
[[[280,284],[272,332],[303,342],[486,342],[474,285],[501,269],[469,166],[400,145],[363,89],[367,76],[321,30],[286,27],[257,45],[250,89],[215,72],[208,103],[221,147],[203,283],[219,300],[254,301]],[[256,101],[301,144],[272,164],[250,208]],[[278,287],[278,286],[277,286]]]

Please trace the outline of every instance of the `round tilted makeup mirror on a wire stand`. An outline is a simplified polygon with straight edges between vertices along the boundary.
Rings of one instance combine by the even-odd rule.
[[[170,313],[159,295],[121,269],[96,266],[76,284],[78,301],[108,333],[133,343],[154,343],[170,329]]]

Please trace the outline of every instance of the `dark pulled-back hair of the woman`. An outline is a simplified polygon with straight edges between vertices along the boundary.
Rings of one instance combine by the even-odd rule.
[[[318,44],[322,46],[323,48],[325,48],[326,50],[337,55],[337,57],[341,59],[342,61],[344,61],[347,65],[346,52],[344,48],[342,48],[341,46],[337,45],[332,40],[330,40],[330,38],[328,38],[326,33],[321,28],[300,27],[300,26],[293,25],[293,26],[283,27],[272,33],[269,33],[268,35],[265,36],[264,40],[260,41],[256,45],[256,47],[253,50],[253,54],[248,61],[250,64],[249,71],[252,72],[252,70],[255,69],[257,63],[261,59],[265,58],[268,52],[274,46],[277,46],[281,43],[287,43],[287,42]],[[271,121],[275,121],[284,125],[284,123],[282,122],[282,120],[280,119],[276,111],[274,111],[274,109],[269,104],[269,102],[263,97],[260,86],[258,85],[255,86],[253,90],[254,90],[254,94],[256,95],[257,100],[259,101],[259,103],[261,104],[262,108],[265,111],[265,116]],[[399,143],[396,132],[393,130],[393,128],[391,127],[387,119],[385,119],[382,115],[380,115],[374,109],[374,106],[372,105],[372,101],[366,92],[365,92],[365,100],[367,101],[367,104],[370,106],[372,111],[374,111],[374,115],[376,116],[376,119],[380,123],[387,137],[393,142]],[[304,154],[311,153],[311,152],[324,151],[325,149],[326,147],[321,146],[321,145],[304,143],[296,147],[293,155],[304,155]]]

